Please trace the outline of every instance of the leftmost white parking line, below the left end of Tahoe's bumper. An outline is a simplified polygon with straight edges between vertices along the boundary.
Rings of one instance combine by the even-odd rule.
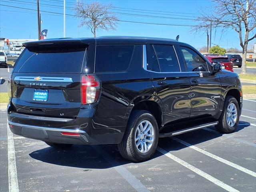
[[[9,192],[19,192],[13,134],[7,123]]]

